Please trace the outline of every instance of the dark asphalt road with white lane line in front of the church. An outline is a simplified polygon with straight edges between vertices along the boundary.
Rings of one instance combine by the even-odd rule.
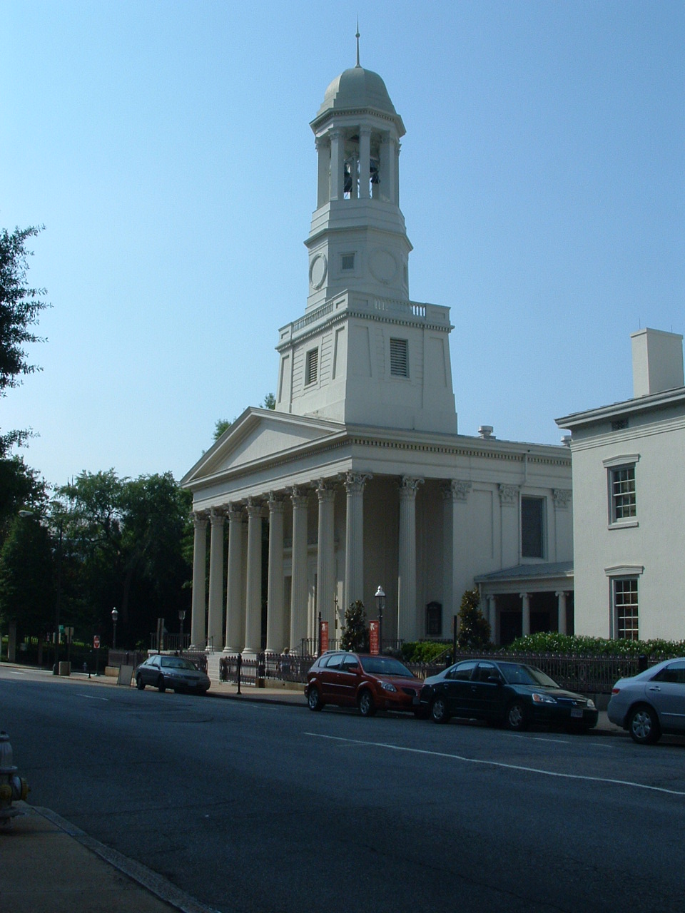
[[[685,740],[362,719],[6,670],[0,729],[31,803],[221,911],[683,906]]]

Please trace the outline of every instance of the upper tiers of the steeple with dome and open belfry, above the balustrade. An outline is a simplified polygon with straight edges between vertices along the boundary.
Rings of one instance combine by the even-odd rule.
[[[357,38],[358,42],[358,38]],[[399,208],[405,125],[385,82],[359,63],[326,89],[311,121],[318,155],[307,310],[343,290],[409,299],[409,252]]]

